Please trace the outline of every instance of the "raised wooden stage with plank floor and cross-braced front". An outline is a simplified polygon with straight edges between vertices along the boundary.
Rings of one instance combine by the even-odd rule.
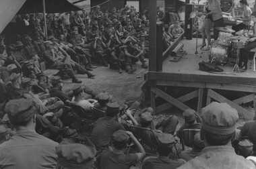
[[[252,70],[248,68],[246,72],[241,73],[232,72],[232,66],[220,66],[224,70],[224,72],[220,73],[203,72],[199,70],[198,63],[201,61],[207,62],[208,51],[205,52],[198,49],[199,53],[204,52],[200,58],[194,54],[195,39],[183,39],[181,43],[184,44],[183,50],[186,50],[188,54],[183,55],[179,62],[170,62],[170,56],[167,56],[162,62],[162,72],[152,71],[151,69],[145,75],[150,85],[151,105],[155,113],[165,111],[173,106],[184,111],[189,108],[185,105],[186,101],[198,98],[196,111],[199,113],[201,112],[202,104],[208,105],[212,100],[215,100],[228,103],[245,119],[253,119],[254,113],[241,107],[241,104],[251,101],[254,101],[254,105],[256,104],[256,72],[253,72],[253,66]],[[201,39],[198,40],[198,44],[201,44]],[[162,87],[193,87],[195,91],[187,93],[182,97],[174,98],[165,91],[162,91]],[[243,95],[231,101],[218,93],[216,89],[217,91],[234,91],[234,93],[242,92]],[[206,99],[203,99],[203,95],[206,95]],[[166,103],[156,107],[156,96],[164,99]]]

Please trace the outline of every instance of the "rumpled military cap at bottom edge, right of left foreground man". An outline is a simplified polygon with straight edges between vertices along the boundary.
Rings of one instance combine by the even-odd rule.
[[[69,169],[90,168],[96,156],[94,144],[88,138],[72,137],[56,147],[58,164]]]

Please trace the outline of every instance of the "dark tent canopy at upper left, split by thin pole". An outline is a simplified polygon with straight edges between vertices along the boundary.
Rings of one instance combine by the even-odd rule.
[[[80,11],[82,9],[69,3],[67,0],[45,0],[45,10],[46,13],[63,13],[66,11]],[[26,0],[26,3],[18,11],[18,14],[21,13],[43,13],[42,0]]]

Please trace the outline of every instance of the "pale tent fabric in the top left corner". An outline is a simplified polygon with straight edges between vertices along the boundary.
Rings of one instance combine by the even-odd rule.
[[[5,26],[11,21],[20,7],[26,0],[1,0],[0,2],[0,33],[5,29]]]

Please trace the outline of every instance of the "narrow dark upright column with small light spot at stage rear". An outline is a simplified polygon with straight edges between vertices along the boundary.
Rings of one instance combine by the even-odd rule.
[[[190,13],[193,11],[193,4],[185,6],[185,36],[186,40],[192,40],[193,36],[193,19],[190,18]]]

